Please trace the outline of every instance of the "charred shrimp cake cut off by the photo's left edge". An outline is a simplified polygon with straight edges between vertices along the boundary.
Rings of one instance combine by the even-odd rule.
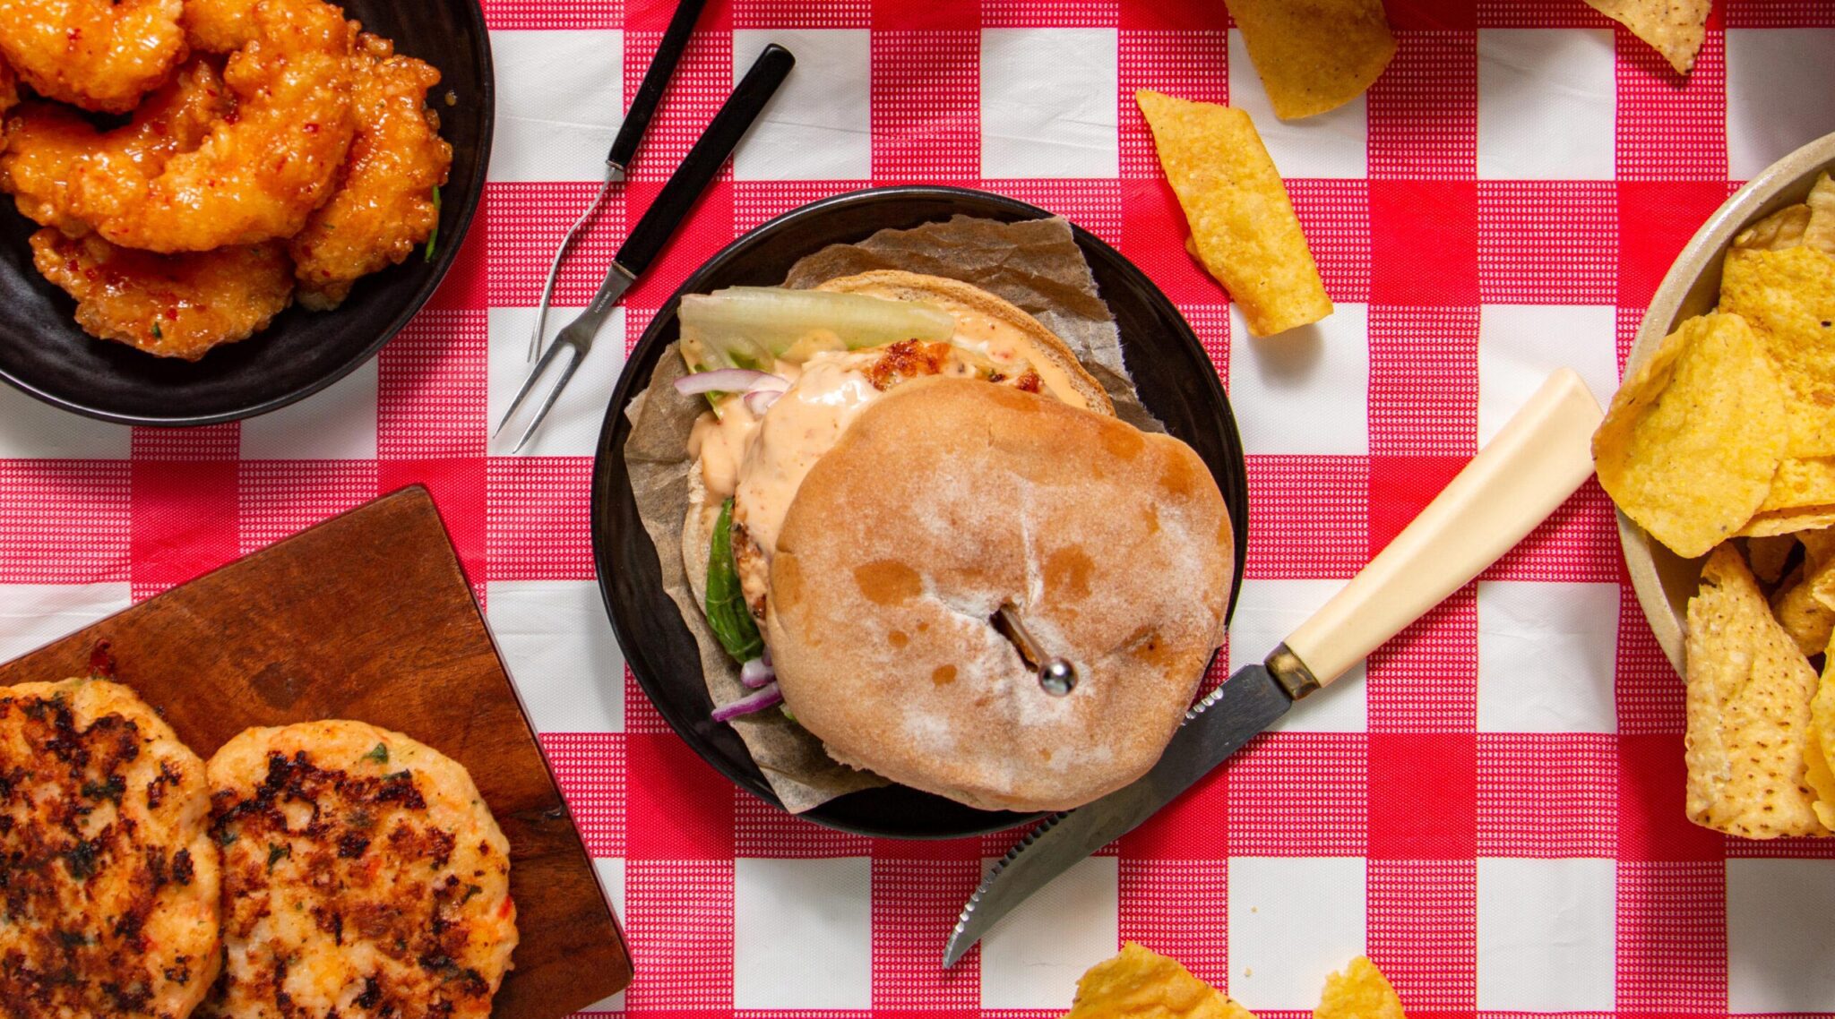
[[[128,687],[0,687],[0,1015],[184,1019],[217,979],[204,761]]]

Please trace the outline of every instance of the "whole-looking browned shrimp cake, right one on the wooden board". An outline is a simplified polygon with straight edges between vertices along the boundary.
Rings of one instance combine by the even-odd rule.
[[[209,762],[237,1019],[490,1015],[510,845],[455,761],[363,722],[248,729]]]

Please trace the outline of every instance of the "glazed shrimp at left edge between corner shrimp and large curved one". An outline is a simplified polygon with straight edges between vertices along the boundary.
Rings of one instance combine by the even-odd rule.
[[[0,191],[13,194],[26,218],[86,235],[94,209],[116,200],[116,181],[160,174],[233,110],[222,75],[204,59],[180,68],[127,126],[110,132],[97,132],[66,106],[28,103],[7,121],[11,145],[0,154]]]

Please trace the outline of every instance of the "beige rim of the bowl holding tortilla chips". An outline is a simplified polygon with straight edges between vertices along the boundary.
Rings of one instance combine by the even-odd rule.
[[[1688,299],[1688,293],[1703,277],[1719,273],[1721,260],[1732,246],[1734,236],[1778,207],[1800,202],[1802,198],[1795,196],[1793,191],[1806,181],[1813,181],[1815,174],[1822,170],[1835,172],[1835,134],[1817,137],[1760,170],[1758,176],[1734,191],[1701,224],[1663,275],[1663,282],[1657,284],[1655,293],[1652,293],[1650,308],[1644,312],[1644,319],[1639,323],[1637,335],[1631,341],[1631,350],[1626,354],[1624,376],[1629,376],[1642,365],[1657,350],[1657,345],[1663,343],[1663,337],[1675,332],[1681,324],[1683,302]],[[1663,575],[1657,570],[1657,555],[1674,553],[1657,546],[1650,531],[1631,520],[1624,510],[1613,506],[1613,515],[1618,522],[1618,548],[1624,555],[1626,572],[1631,575],[1631,590],[1637,594],[1639,608],[1642,608],[1644,619],[1650,623],[1652,632],[1655,632],[1664,658],[1670,660],[1677,674],[1686,674],[1685,619],[1670,601]],[[1701,563],[1705,559],[1697,557],[1688,563]]]

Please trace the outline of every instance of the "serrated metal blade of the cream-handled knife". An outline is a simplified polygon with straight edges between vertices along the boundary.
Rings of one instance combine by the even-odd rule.
[[[1266,665],[1237,669],[1185,713],[1185,722],[1152,770],[1094,803],[1048,817],[995,863],[962,907],[943,949],[943,966],[954,966],[1026,896],[1152,817],[1292,706],[1294,700]]]

